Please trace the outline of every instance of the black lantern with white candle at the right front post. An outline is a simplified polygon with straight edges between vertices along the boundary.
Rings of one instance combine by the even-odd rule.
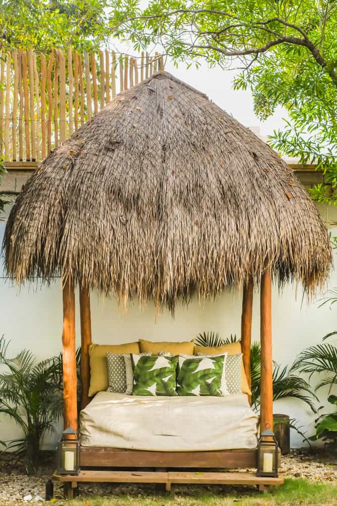
[[[278,477],[278,444],[270,429],[263,431],[259,439],[257,476]]]

